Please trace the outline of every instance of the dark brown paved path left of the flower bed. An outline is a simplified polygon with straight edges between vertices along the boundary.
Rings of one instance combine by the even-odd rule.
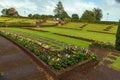
[[[0,36],[0,80],[48,80],[49,75],[38,67],[20,48]]]

